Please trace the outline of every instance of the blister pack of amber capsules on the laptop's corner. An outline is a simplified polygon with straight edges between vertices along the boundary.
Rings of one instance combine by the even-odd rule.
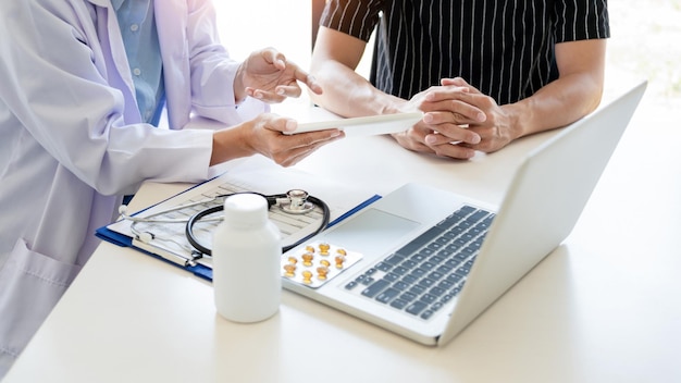
[[[318,288],[357,263],[362,255],[332,244],[315,242],[282,257],[282,276]]]

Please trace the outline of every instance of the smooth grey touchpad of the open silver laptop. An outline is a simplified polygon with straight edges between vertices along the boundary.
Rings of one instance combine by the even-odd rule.
[[[326,232],[331,244],[364,256],[380,256],[401,243],[403,237],[421,224],[376,209],[368,209]]]

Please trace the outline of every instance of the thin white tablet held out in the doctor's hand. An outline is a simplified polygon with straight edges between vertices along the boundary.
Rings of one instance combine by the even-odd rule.
[[[396,113],[381,114],[366,118],[332,119],[315,122],[300,122],[293,132],[285,134],[298,134],[305,132],[325,131],[338,128],[345,132],[346,137],[371,136],[405,132],[423,118],[423,113]]]

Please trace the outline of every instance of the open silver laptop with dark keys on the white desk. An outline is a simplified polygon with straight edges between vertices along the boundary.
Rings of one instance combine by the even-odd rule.
[[[646,85],[529,152],[498,208],[404,185],[314,237],[312,249],[287,252],[326,244],[355,255],[352,264],[321,285],[284,277],[284,287],[418,343],[446,344],[572,231]]]

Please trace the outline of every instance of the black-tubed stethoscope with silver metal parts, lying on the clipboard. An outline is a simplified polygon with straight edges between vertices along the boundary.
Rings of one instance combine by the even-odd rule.
[[[214,207],[203,209],[195,213],[194,215],[191,215],[189,219],[161,219],[157,217],[168,214],[174,211],[179,211],[183,209],[191,208],[191,207],[199,206],[199,205],[210,203],[221,198],[227,198],[230,196],[242,194],[242,193],[251,193],[251,194],[257,194],[259,196],[262,196],[268,201],[268,209],[271,209],[272,207],[276,206],[282,211],[288,214],[306,214],[314,210],[315,206],[319,206],[322,209],[322,221],[320,222],[317,230],[310,235],[297,240],[296,243],[292,245],[283,246],[282,247],[283,252],[290,250],[292,248],[300,245],[301,243],[309,239],[310,237],[321,233],[329,225],[329,220],[331,217],[331,211],[329,209],[329,206],[323,200],[317,197],[310,196],[307,192],[302,189],[292,189],[292,190],[288,190],[286,194],[275,194],[275,195],[263,195],[263,194],[255,193],[255,192],[239,192],[239,193],[216,195],[214,197],[202,199],[200,201],[179,205],[179,206],[166,209],[166,210],[158,211],[147,217],[129,215],[126,213],[127,207],[123,205],[119,209],[119,213],[121,214],[122,219],[132,221],[131,233],[135,235],[135,239],[140,240],[143,243],[149,243],[152,239],[157,239],[157,240],[162,240],[162,242],[172,242],[183,248],[186,248],[186,245],[181,244],[175,239],[162,238],[162,237],[157,236],[152,232],[148,232],[148,231],[141,232],[136,227],[137,223],[185,223],[185,236],[187,237],[187,242],[193,247],[193,249],[187,249],[187,250],[189,252],[193,252],[194,255],[198,254],[199,257],[195,257],[196,259],[196,258],[200,258],[200,256],[203,256],[203,255],[211,256],[212,251],[210,248],[199,243],[199,240],[197,239],[194,233],[194,226],[199,221],[201,222],[221,221],[222,217],[214,217],[214,218],[206,218],[206,217],[224,210],[224,205],[219,203]]]

